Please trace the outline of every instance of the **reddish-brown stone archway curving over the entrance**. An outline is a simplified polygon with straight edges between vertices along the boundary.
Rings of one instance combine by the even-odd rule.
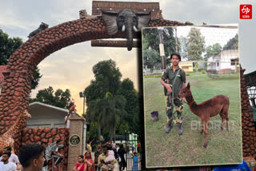
[[[149,22],[149,26],[184,25],[164,19],[153,19]],[[43,30],[23,43],[10,57],[6,72],[3,73],[4,82],[0,96],[0,134],[5,133],[10,125],[14,125],[20,113],[28,109],[32,73],[44,58],[66,46],[100,38],[126,38],[126,34],[107,34],[106,23],[101,16],[98,16],[64,22]],[[26,121],[23,120],[22,127],[25,126]],[[20,134],[17,134],[14,139],[19,147],[21,145]]]

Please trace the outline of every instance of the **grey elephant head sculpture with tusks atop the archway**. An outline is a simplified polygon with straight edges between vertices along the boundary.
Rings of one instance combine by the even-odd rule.
[[[142,27],[148,26],[151,18],[151,12],[135,13],[133,10],[124,9],[116,12],[102,11],[102,18],[106,22],[106,31],[108,34],[116,34],[118,31],[126,31],[127,50],[132,50],[133,33],[138,32]]]

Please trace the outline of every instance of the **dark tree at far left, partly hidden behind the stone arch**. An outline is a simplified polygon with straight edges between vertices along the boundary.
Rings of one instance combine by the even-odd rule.
[[[9,38],[9,35],[3,33],[0,29],[0,66],[6,66],[9,58],[22,45],[22,38]],[[38,87],[38,82],[42,75],[39,73],[38,67],[33,72],[34,80],[31,82],[31,89]]]

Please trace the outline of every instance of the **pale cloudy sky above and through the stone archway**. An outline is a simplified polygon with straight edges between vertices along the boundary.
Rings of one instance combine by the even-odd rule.
[[[119,0],[122,1],[122,0]],[[0,1],[0,28],[10,37],[22,38],[36,30],[41,22],[50,27],[62,22],[79,18],[79,10],[87,10],[91,14],[92,1],[85,0],[44,0],[44,1]],[[163,18],[178,22],[192,22],[195,25],[227,25],[238,24],[240,60],[246,72],[256,70],[256,2],[252,0],[159,0],[127,2],[159,2]],[[253,6],[253,19],[239,19],[240,4]],[[70,89],[72,98],[77,105],[78,113],[82,113],[83,100],[79,92],[94,79],[92,66],[102,60],[113,59],[122,73],[123,78],[130,78],[138,89],[137,50],[128,52],[126,48],[91,47],[90,42],[82,42],[68,46],[50,54],[39,65],[43,75],[38,88],[32,91],[35,97],[39,89],[53,86],[54,89]]]

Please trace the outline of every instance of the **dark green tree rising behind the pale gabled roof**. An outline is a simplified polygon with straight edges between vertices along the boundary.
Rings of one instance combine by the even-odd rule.
[[[73,99],[71,99],[70,90],[57,89],[54,93],[54,89],[49,86],[46,89],[38,91],[35,98],[30,99],[30,102],[39,101],[48,105],[54,105],[56,107],[70,109],[74,105]]]

